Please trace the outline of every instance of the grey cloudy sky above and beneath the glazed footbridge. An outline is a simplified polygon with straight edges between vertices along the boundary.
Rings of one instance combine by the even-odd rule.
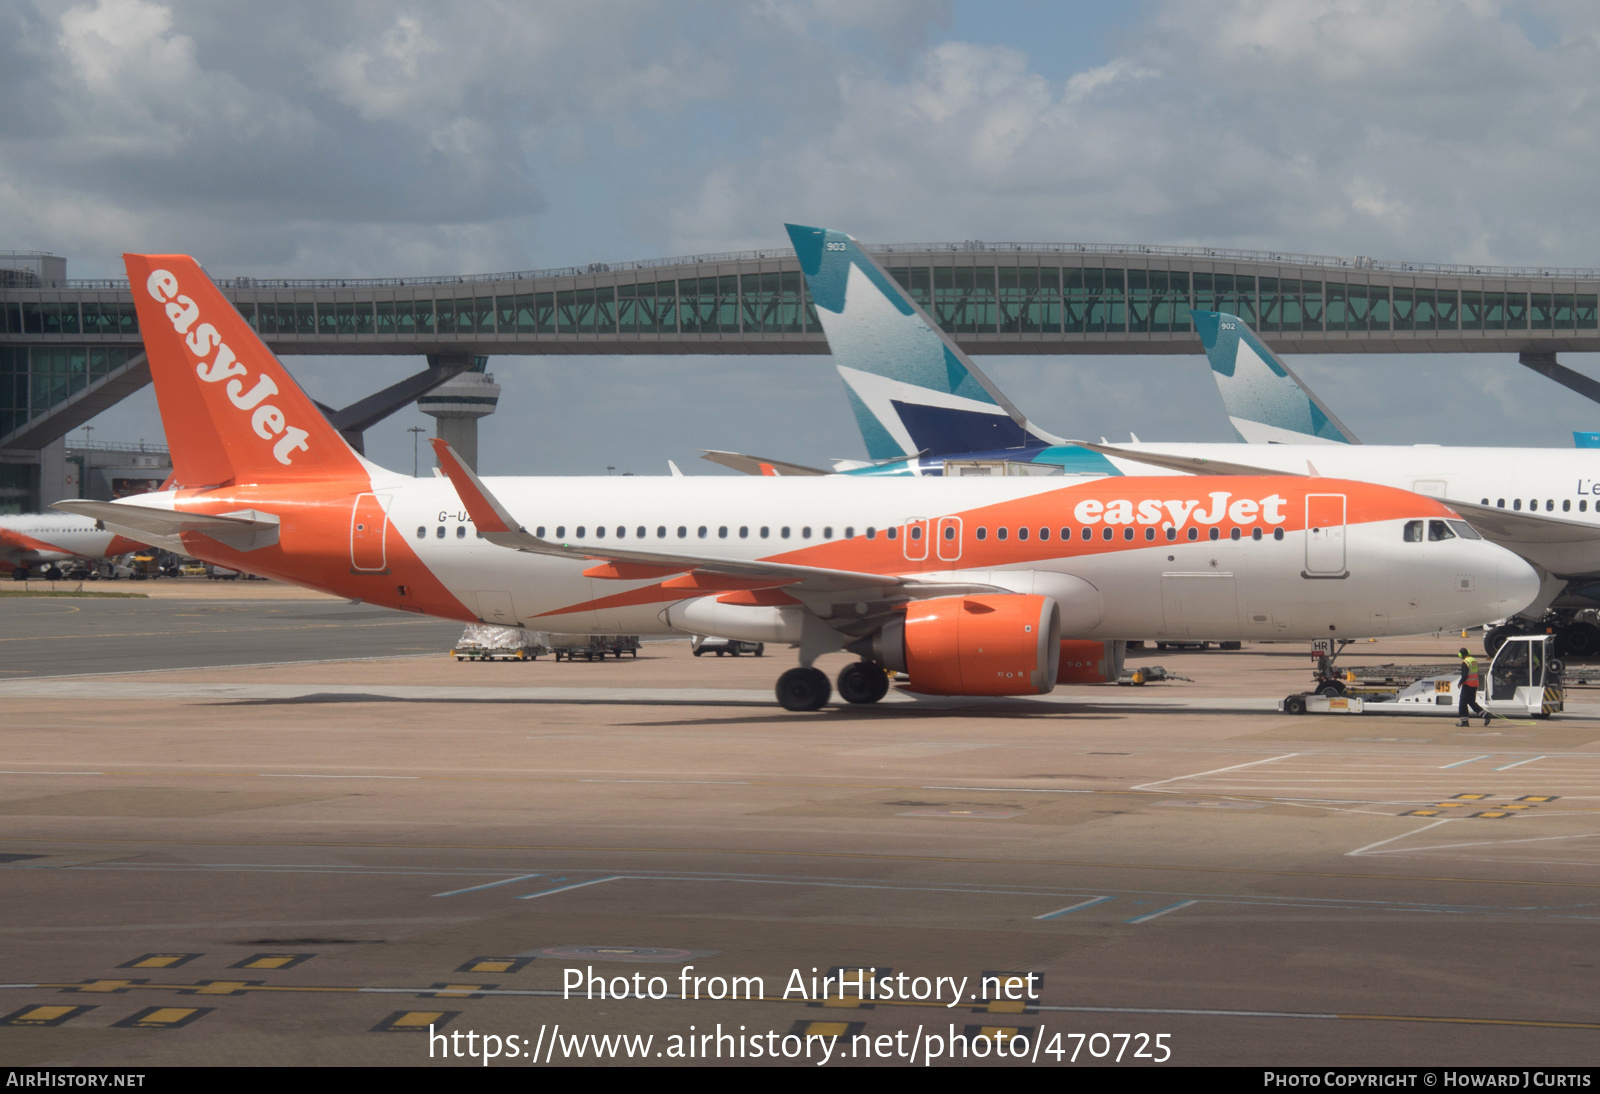
[[[72,277],[139,250],[216,275],[539,269],[774,246],[784,221],[1600,266],[1600,6],[1576,2],[11,0],[0,88],[0,248]],[[1053,432],[1232,440],[1198,341],[981,363]],[[1370,443],[1600,427],[1510,357],[1291,363]],[[421,361],[288,365],[342,405]],[[824,357],[491,371],[491,473],[862,454]],[[410,467],[413,424],[370,454]],[[94,425],[160,437],[149,390]]]

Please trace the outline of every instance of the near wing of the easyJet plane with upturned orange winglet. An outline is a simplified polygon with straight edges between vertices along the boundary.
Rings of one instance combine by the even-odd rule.
[[[714,589],[715,582],[696,584],[694,574],[712,577],[739,579],[741,589],[792,589],[794,592],[851,592],[869,589],[894,589],[906,597],[950,597],[968,592],[1003,592],[995,585],[960,584],[960,582],[920,582],[915,577],[898,574],[872,574],[854,569],[827,569],[822,566],[795,566],[792,563],[774,563],[744,558],[715,558],[710,555],[688,555],[662,550],[629,550],[622,547],[590,544],[574,547],[573,544],[557,544],[539,539],[530,533],[515,517],[488,491],[483,481],[461,462],[456,451],[443,440],[434,438],[434,453],[438,465],[456,486],[461,502],[466,505],[472,523],[483,539],[499,547],[525,550],[533,555],[552,555],[557,558],[573,558],[579,561],[606,561],[614,573],[613,577],[659,577],[666,574],[685,574],[674,579],[670,587],[685,590],[685,597]]]

